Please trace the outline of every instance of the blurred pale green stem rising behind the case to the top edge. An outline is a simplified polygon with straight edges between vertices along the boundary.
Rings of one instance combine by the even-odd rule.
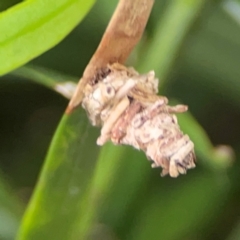
[[[160,18],[148,48],[143,51],[145,61],[140,61],[138,70],[154,69],[160,77],[161,88],[190,27],[202,9],[205,0],[168,1],[164,16]],[[142,59],[142,58],[140,58]]]

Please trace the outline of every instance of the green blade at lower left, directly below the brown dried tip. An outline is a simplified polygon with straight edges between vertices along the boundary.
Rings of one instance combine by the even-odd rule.
[[[78,239],[81,200],[98,152],[95,139],[96,130],[83,111],[63,117],[23,218],[19,240]]]

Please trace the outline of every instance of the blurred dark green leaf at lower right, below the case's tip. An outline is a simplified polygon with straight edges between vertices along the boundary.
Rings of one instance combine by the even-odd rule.
[[[126,239],[188,239],[186,236],[193,232],[198,236],[197,231],[209,223],[227,198],[228,179],[201,172],[186,180],[171,188],[153,188],[132,220]]]

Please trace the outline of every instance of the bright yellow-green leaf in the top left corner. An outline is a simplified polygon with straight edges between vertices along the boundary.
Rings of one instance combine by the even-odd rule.
[[[0,75],[59,43],[94,0],[27,0],[0,13]]]

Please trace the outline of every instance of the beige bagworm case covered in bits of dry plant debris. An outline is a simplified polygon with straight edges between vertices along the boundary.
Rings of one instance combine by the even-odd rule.
[[[177,177],[195,167],[194,144],[183,134],[174,113],[187,106],[169,106],[158,96],[154,71],[139,74],[118,63],[108,65],[84,88],[83,108],[94,126],[102,126],[98,145],[111,140],[145,152],[161,176]]]

